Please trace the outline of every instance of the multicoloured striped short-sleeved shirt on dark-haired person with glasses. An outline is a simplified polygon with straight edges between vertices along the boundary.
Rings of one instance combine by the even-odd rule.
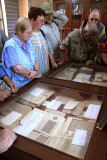
[[[46,38],[46,39],[45,39]],[[53,54],[53,50],[47,37],[41,31],[34,31],[30,41],[35,48],[35,54],[39,61],[39,71],[43,74],[49,71],[49,54]]]

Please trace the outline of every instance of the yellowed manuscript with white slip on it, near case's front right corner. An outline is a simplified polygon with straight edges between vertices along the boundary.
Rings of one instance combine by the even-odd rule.
[[[95,123],[83,121],[81,118],[69,117],[60,130],[61,134],[51,138],[48,145],[83,159],[94,125]],[[79,142],[77,142],[77,139]]]

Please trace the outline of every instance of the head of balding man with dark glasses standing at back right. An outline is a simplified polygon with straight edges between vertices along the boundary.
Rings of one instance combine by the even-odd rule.
[[[99,19],[100,19],[100,13],[98,11],[98,9],[94,9],[90,15],[89,15],[89,22],[90,23],[98,23]]]

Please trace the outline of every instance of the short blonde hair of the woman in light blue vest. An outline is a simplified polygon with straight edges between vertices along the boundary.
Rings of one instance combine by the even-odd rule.
[[[18,31],[21,31],[22,33],[27,29],[27,27],[32,27],[33,25],[31,23],[31,21],[28,18],[25,17],[20,17],[15,25],[15,33],[18,33]]]

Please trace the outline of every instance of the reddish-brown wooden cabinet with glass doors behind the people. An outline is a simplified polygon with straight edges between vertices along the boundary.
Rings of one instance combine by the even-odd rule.
[[[88,18],[93,9],[101,13],[101,23],[107,24],[107,1],[106,0],[53,0],[54,10],[62,10],[69,21],[63,28],[63,37],[75,28],[79,28],[82,21]]]

